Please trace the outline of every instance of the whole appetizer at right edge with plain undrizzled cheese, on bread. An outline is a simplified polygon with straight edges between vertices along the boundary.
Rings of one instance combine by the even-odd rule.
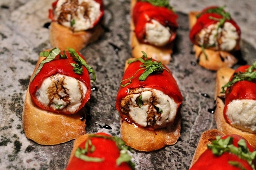
[[[243,136],[256,149],[256,62],[236,70],[221,68],[216,75],[217,128]]]

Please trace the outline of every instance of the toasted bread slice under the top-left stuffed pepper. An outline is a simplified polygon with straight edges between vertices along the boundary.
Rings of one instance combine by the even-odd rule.
[[[58,47],[60,50],[65,50],[68,47],[80,51],[87,44],[98,40],[103,32],[100,23],[92,29],[73,32],[70,28],[52,21],[49,27],[49,40],[52,47]]]

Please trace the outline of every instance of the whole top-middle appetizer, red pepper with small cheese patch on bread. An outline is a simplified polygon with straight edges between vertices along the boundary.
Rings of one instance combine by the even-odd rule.
[[[169,0],[131,0],[132,56],[140,58],[141,51],[145,51],[153,59],[169,64],[177,18]]]

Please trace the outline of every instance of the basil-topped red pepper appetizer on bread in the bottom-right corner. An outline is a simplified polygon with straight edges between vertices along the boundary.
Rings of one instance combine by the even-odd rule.
[[[189,170],[255,170],[255,161],[256,151],[246,139],[214,129],[202,134]]]

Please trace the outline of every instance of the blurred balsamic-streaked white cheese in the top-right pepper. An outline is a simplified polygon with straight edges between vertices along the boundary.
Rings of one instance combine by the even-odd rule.
[[[205,47],[215,47],[221,51],[232,51],[238,42],[239,34],[231,23],[224,23],[219,27],[219,22],[202,29],[198,33],[198,44]]]

